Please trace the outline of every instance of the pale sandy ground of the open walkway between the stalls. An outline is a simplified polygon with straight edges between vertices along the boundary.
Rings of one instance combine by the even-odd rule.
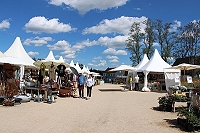
[[[85,93],[86,94],[86,93]],[[122,85],[93,87],[92,98],[0,106],[0,133],[181,133],[177,113],[161,112],[165,93],[124,91]]]

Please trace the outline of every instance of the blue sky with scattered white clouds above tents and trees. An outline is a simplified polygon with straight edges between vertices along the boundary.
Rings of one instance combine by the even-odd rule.
[[[199,9],[199,0],[1,0],[0,51],[20,37],[36,59],[52,50],[89,69],[131,65],[125,40],[133,22],[161,19],[176,30],[200,20]]]

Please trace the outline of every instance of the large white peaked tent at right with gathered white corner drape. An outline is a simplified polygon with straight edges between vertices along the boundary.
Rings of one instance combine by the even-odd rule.
[[[164,73],[164,72],[172,72],[172,73],[179,73],[180,71],[177,71],[175,69],[168,69],[165,71],[165,68],[169,68],[171,65],[166,63],[158,53],[158,50],[155,49],[153,56],[151,59],[139,70],[143,71],[144,73],[144,87],[142,88],[142,91],[150,91],[147,87],[147,76],[149,72],[158,72],[158,73]],[[167,85],[166,85],[167,88]]]

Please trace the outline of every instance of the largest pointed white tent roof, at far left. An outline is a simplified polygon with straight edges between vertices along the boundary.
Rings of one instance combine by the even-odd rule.
[[[10,48],[4,54],[6,56],[20,58],[20,59],[22,59],[26,62],[31,63],[31,64],[33,64],[35,62],[25,51],[19,37],[16,37],[13,44],[10,46]]]

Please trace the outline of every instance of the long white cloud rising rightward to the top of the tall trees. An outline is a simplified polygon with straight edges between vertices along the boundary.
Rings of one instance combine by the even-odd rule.
[[[128,35],[131,25],[134,22],[143,22],[147,20],[146,17],[125,17],[115,18],[112,20],[105,19],[101,21],[97,26],[85,28],[83,34],[108,34],[108,33],[119,33]],[[144,29],[145,25],[141,24],[141,28]]]

